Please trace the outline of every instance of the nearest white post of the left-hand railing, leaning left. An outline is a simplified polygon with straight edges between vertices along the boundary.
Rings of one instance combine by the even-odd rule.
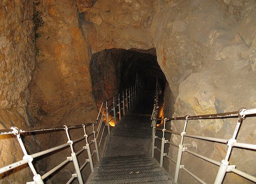
[[[41,175],[36,172],[36,169],[35,169],[34,165],[32,164],[33,157],[28,155],[28,153],[26,151],[26,148],[25,148],[25,146],[23,144],[23,141],[21,139],[21,134],[19,132],[19,129],[17,127],[11,127],[10,129],[15,131],[15,135],[17,136],[19,145],[21,146],[21,150],[23,151],[23,154],[24,154],[23,160],[24,159],[28,159],[29,160],[28,166],[30,167],[30,170],[32,171],[32,173],[34,175],[33,176],[33,180],[34,180],[35,184],[43,184],[43,179],[41,178]]]

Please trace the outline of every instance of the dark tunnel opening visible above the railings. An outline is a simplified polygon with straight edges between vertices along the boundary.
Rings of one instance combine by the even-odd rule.
[[[157,63],[155,48],[111,49],[93,54],[90,75],[96,104],[99,106],[105,99],[133,86],[136,74],[141,77],[146,89],[155,89],[156,77],[164,88],[166,77]]]

